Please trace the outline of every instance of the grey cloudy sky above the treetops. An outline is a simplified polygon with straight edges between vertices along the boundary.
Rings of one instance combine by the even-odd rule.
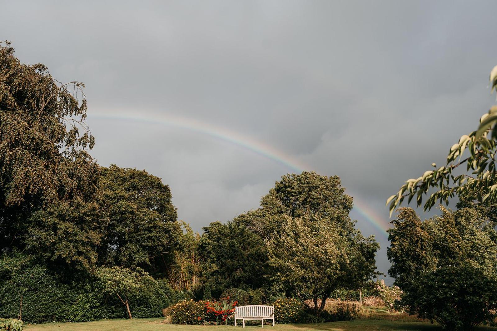
[[[496,12],[496,1],[0,0],[0,38],[22,62],[83,81],[91,154],[161,177],[195,230],[256,208],[293,169],[164,117],[338,175],[385,225],[385,199],[442,164],[492,104]],[[386,272],[385,235],[351,216],[376,235]]]

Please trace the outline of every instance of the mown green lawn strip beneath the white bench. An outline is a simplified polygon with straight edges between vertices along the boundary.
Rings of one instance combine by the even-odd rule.
[[[50,323],[40,325],[28,325],[25,331],[208,331],[223,330],[235,331],[241,330],[242,327],[234,326],[185,326],[171,325],[163,323],[163,319],[134,319],[134,320],[102,320],[95,322],[83,323]],[[246,326],[246,330],[261,329],[258,326]],[[275,327],[265,325],[264,329],[268,331],[312,331],[312,330],[329,330],[329,331],[424,331],[440,330],[439,327],[429,323],[419,322],[392,322],[392,321],[375,321],[375,320],[355,320],[347,322],[333,322],[322,324],[280,324]],[[478,330],[497,330],[494,328],[479,328]]]

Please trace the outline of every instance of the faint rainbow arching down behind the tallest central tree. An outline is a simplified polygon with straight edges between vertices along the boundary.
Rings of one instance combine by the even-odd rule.
[[[255,140],[248,136],[244,136],[240,132],[231,131],[226,128],[215,127],[211,124],[199,122],[190,118],[171,116],[162,113],[138,114],[135,112],[123,111],[119,111],[119,113],[101,112],[98,115],[92,115],[91,118],[102,120],[134,121],[155,125],[160,124],[199,132],[201,134],[206,134],[248,149],[251,152],[255,152],[267,159],[273,160],[274,162],[277,162],[296,173],[301,173],[304,170],[310,171],[312,169],[312,167],[305,164],[304,162],[290,155],[287,155],[268,144],[262,143],[261,141]],[[354,197],[354,195],[352,195],[350,191],[348,192],[348,194]],[[386,218],[378,215],[364,201],[360,201],[357,198],[358,196],[355,197],[356,198],[354,198],[353,210],[359,212],[359,214],[361,214],[370,224],[372,224],[373,227],[376,228],[383,236],[388,237],[386,233],[386,230],[388,229],[388,224],[385,222]]]

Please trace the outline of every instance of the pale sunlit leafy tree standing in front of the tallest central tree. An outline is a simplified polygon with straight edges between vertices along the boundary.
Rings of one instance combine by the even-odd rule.
[[[284,217],[281,234],[267,244],[269,263],[284,290],[313,300],[316,315],[333,290],[360,287],[373,276],[378,250],[373,238],[347,232],[328,219]]]

